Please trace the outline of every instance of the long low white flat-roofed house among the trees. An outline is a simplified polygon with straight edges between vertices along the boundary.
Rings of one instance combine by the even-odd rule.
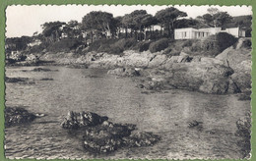
[[[245,30],[239,27],[230,27],[222,29],[221,27],[207,27],[207,28],[176,28],[174,29],[175,39],[198,39],[204,38],[212,34],[219,32],[226,32],[232,34],[235,37],[245,37]]]

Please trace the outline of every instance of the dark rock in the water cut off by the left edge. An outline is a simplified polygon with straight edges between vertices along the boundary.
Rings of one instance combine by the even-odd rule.
[[[21,107],[5,108],[5,126],[15,126],[25,123],[31,123],[36,118],[35,115]]]

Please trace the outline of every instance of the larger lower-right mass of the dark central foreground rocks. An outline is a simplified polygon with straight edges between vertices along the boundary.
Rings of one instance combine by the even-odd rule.
[[[86,130],[84,135],[84,147],[96,153],[106,153],[117,150],[120,147],[150,146],[160,140],[157,134],[138,132],[134,125],[110,124],[99,125]]]

